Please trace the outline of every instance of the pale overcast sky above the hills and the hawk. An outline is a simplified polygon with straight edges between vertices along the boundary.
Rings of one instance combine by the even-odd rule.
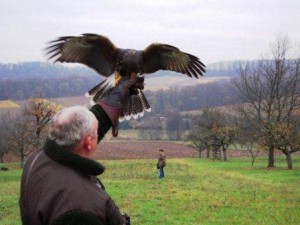
[[[300,41],[299,0],[0,0],[0,63],[44,61],[59,36],[98,33],[118,47],[174,45],[205,64],[255,59],[279,33]]]

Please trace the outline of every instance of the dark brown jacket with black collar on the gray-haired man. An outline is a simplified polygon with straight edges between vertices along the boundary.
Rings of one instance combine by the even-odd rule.
[[[102,109],[97,109],[97,113],[102,119],[106,116]],[[105,121],[106,124],[103,121],[99,124],[101,138],[111,126],[107,124],[109,120]],[[23,171],[20,196],[23,225],[125,224],[118,207],[96,177],[103,172],[100,163],[47,139],[44,149],[31,155]]]

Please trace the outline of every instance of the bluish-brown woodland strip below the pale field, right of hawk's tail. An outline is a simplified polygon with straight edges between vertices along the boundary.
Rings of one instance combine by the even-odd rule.
[[[155,92],[146,91],[145,94],[154,113],[166,114],[234,104],[238,99],[233,88],[230,82],[219,81],[189,87],[171,87]]]

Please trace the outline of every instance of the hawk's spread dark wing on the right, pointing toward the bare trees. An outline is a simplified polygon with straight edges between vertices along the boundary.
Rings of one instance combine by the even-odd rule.
[[[198,78],[205,72],[205,65],[196,56],[174,46],[153,43],[143,51],[141,72],[154,73],[158,70],[171,70]]]

